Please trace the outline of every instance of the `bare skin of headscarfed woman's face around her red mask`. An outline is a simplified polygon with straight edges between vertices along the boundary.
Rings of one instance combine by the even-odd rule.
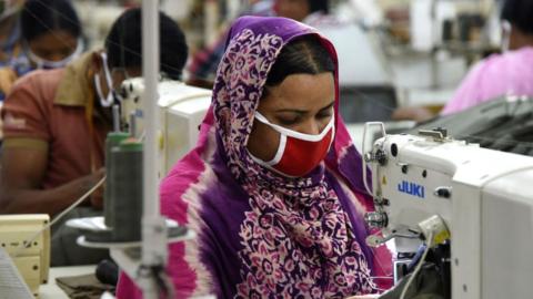
[[[333,116],[335,85],[332,73],[289,75],[259,102],[258,111],[271,123],[292,131],[316,135]],[[248,140],[252,155],[271,161],[280,143],[280,133],[254,120]]]

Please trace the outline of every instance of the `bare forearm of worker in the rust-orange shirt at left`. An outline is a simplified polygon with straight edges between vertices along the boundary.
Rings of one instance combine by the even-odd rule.
[[[0,214],[54,215],[80,198],[103,176],[103,169],[52,189],[41,189],[48,150],[4,147],[0,177]]]

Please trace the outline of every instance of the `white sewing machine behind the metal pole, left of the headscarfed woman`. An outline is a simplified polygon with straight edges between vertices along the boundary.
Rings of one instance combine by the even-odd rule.
[[[185,85],[179,81],[163,80],[159,83],[159,134],[160,134],[160,178],[185,155],[198,141],[200,124],[211,105],[211,90]],[[130,124],[131,114],[135,115],[137,137],[144,131],[142,117],[142,78],[122,83],[121,122]]]

